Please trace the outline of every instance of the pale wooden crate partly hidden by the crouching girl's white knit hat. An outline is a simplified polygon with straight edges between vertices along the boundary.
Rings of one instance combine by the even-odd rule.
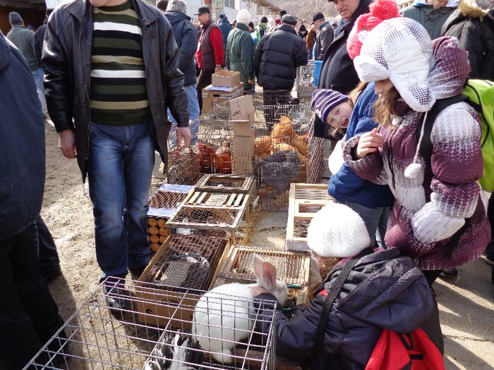
[[[332,202],[325,184],[290,184],[287,221],[288,250],[308,250],[307,228],[315,213]]]

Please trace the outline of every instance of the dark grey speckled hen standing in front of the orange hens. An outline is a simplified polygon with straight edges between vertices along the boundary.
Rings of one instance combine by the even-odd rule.
[[[275,190],[276,205],[279,206],[280,197],[299,176],[301,160],[295,150],[284,150],[255,161],[253,169],[258,179]]]

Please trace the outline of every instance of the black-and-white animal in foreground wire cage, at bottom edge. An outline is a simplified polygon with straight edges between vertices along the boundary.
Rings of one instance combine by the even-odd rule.
[[[152,353],[145,370],[195,370],[204,362],[204,352],[191,335],[167,332]],[[191,365],[195,364],[195,365]]]

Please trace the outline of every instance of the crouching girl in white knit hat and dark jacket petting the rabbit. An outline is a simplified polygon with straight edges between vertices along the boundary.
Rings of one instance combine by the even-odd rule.
[[[315,214],[307,244],[323,281],[308,307],[295,309],[290,319],[278,304],[279,356],[308,363],[312,370],[365,369],[383,329],[422,328],[439,359],[433,369],[444,369],[437,303],[414,261],[397,248],[373,252],[363,220],[344,204],[328,204]],[[256,298],[276,300],[263,288]],[[261,307],[259,316],[272,315],[269,309]],[[267,333],[269,326],[256,330]]]

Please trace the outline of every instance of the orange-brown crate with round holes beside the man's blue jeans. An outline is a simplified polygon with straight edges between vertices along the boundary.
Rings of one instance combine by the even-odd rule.
[[[167,221],[192,188],[189,185],[163,184],[151,195],[147,211],[147,241],[153,251],[156,252],[167,240],[170,235]]]

